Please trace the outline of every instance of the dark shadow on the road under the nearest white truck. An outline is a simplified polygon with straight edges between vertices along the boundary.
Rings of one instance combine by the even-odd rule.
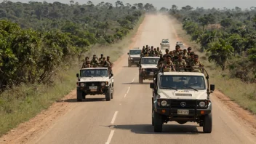
[[[191,125],[177,125],[177,124],[164,124],[162,132],[153,132],[153,126],[151,124],[127,124],[127,125],[114,125],[109,126],[113,129],[130,130],[136,134],[175,134],[175,135],[199,135],[196,126]]]

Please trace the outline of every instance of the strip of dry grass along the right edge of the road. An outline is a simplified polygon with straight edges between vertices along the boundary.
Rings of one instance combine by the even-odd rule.
[[[231,78],[228,70],[222,71],[215,63],[209,63],[206,52],[200,52],[200,45],[191,41],[191,36],[183,31],[182,24],[172,18],[172,25],[177,36],[185,43],[186,47],[192,47],[192,51],[199,55],[199,60],[204,63],[204,67],[209,73],[209,83],[215,84],[216,89],[230,97],[242,108],[256,113],[256,84],[247,84],[240,79]]]

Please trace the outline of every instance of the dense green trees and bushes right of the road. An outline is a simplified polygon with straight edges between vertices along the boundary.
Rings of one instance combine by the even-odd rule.
[[[228,69],[231,76],[256,82],[256,7],[195,9],[188,5],[178,9],[172,5],[160,10],[183,23],[191,41],[201,45],[210,62],[223,71]]]

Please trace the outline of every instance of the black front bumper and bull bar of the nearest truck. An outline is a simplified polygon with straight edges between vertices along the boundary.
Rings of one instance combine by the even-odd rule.
[[[185,101],[188,106],[182,107],[181,102]],[[212,111],[212,103],[209,102],[207,108],[200,108],[198,103],[201,100],[169,100],[169,106],[159,106],[155,101],[155,111],[161,115],[168,116],[170,120],[196,119],[200,116],[207,115]],[[177,113],[177,111],[188,111],[186,114]]]

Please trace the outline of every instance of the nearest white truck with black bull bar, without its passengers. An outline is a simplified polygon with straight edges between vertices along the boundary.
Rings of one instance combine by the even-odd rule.
[[[197,122],[205,133],[212,132],[212,102],[209,95],[209,75],[203,72],[169,71],[163,68],[154,76],[152,97],[152,125],[161,132],[164,123]]]

